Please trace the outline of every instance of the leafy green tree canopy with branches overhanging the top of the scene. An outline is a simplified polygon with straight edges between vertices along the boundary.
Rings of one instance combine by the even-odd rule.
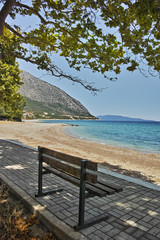
[[[107,72],[139,68],[160,73],[160,1],[159,0],[1,0],[0,34],[4,27],[17,36],[14,56],[34,63],[56,77],[81,83],[97,91],[94,85],[65,74],[53,61],[54,53],[65,57],[69,66],[82,66],[107,77]],[[28,5],[27,5],[28,4]],[[36,28],[24,31],[16,17],[39,20]],[[13,20],[7,23],[7,16]],[[100,23],[100,24],[99,24]],[[103,28],[101,27],[103,26]],[[115,33],[116,32],[116,33]],[[24,45],[25,43],[25,45]],[[110,80],[115,77],[109,78]]]

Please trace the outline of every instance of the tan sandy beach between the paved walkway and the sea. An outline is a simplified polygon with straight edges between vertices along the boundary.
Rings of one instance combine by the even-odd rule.
[[[144,154],[126,148],[73,138],[64,133],[63,129],[66,126],[36,121],[0,122],[0,138],[15,140],[36,148],[45,146],[96,161],[107,170],[160,185],[160,155]]]

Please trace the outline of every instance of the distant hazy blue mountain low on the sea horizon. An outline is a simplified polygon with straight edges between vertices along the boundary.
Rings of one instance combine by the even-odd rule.
[[[99,120],[103,121],[124,121],[124,122],[141,122],[141,121],[149,121],[149,120],[144,120],[141,118],[130,118],[130,117],[124,117],[124,116],[119,116],[119,115],[99,115],[97,116]]]

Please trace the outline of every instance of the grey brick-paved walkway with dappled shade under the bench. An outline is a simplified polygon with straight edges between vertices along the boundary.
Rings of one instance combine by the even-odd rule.
[[[104,212],[108,212],[109,219],[76,233],[73,226],[78,219],[79,188],[53,174],[45,175],[46,189],[61,186],[64,191],[35,198],[37,169],[36,151],[0,140],[0,177],[15,191],[22,191],[28,205],[41,206],[45,217],[37,215],[44,224],[56,221],[52,229],[60,239],[160,239],[160,191],[99,173],[100,178],[122,185],[124,190],[104,198],[86,199],[85,219]]]

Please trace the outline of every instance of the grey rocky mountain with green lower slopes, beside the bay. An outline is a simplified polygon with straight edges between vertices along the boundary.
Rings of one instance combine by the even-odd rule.
[[[25,115],[30,118],[95,119],[66,92],[23,71],[20,93],[26,100]]]

